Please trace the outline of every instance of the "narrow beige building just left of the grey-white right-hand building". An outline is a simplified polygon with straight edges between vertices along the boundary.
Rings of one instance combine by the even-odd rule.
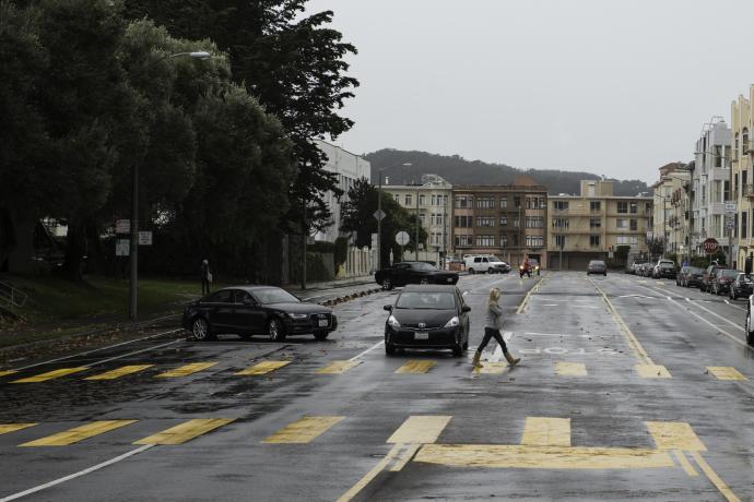
[[[688,186],[691,171],[683,163],[670,163],[660,167],[660,179],[652,184],[655,211],[649,237],[663,239],[662,255],[688,254]],[[652,256],[655,258],[655,256]]]

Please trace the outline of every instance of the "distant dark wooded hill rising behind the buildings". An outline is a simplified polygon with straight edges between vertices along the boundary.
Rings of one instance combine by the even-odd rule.
[[[419,182],[422,175],[439,175],[452,184],[510,184],[522,175],[533,178],[539,184],[547,188],[547,193],[578,194],[581,180],[598,180],[601,176],[592,172],[561,171],[556,169],[517,169],[505,164],[487,164],[481,160],[467,160],[459,155],[435,155],[426,152],[407,152],[384,148],[365,156],[372,163],[372,182],[377,184],[378,169],[382,167],[411,163],[387,170],[390,184]],[[610,180],[610,178],[608,178]],[[382,178],[385,182],[385,178]],[[636,195],[649,192],[647,183],[640,180],[613,179],[615,195]]]

